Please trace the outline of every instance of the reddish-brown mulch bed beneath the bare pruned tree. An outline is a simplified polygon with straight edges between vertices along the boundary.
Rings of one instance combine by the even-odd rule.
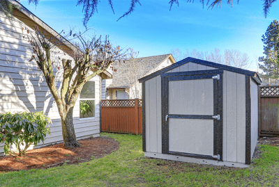
[[[82,147],[68,148],[63,144],[32,149],[22,157],[0,156],[0,172],[50,168],[76,164],[102,158],[119,149],[119,142],[112,138],[98,137],[79,140]]]

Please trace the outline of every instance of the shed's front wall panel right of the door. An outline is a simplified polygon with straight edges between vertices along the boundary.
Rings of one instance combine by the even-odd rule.
[[[245,75],[223,74],[223,161],[245,163]]]

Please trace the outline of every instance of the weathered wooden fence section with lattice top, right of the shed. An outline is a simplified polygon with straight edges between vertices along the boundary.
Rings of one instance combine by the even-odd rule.
[[[259,136],[279,136],[279,86],[259,87]]]

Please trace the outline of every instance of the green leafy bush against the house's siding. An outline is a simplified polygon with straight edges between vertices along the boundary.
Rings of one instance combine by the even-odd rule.
[[[36,113],[1,113],[0,114],[0,143],[4,143],[5,154],[8,154],[10,145],[16,145],[19,156],[25,155],[30,145],[37,145],[50,134],[50,117],[43,111]],[[48,125],[48,128],[46,127]],[[20,145],[24,146],[23,149]],[[10,152],[15,155],[14,152]]]

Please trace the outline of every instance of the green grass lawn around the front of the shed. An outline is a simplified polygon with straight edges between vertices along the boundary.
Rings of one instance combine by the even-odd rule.
[[[145,158],[142,136],[102,133],[119,150],[79,165],[0,174],[1,186],[279,186],[279,148],[262,146],[249,168]]]

